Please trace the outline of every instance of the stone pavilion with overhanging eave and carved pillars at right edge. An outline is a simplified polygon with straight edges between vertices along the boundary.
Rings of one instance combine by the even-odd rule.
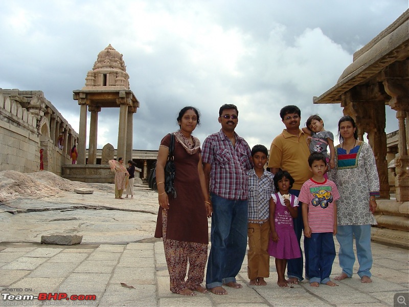
[[[377,227],[372,239],[409,246],[409,10],[354,53],[337,83],[313,103],[340,103],[344,115],[354,118],[358,138],[368,133],[379,176],[380,200],[375,212]],[[385,105],[396,111],[398,150],[394,153],[394,178],[389,180]],[[390,155],[391,156],[391,155]],[[395,181],[395,199],[390,184]]]

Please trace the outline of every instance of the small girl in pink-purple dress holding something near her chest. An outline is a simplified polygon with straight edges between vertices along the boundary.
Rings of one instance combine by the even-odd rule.
[[[270,241],[268,254],[276,257],[276,269],[278,274],[277,284],[280,287],[288,287],[284,273],[287,267],[287,259],[300,258],[301,252],[298,246],[297,236],[292,226],[292,219],[297,218],[297,196],[288,193],[294,183],[288,171],[279,170],[274,176],[274,185],[278,193],[270,197]]]

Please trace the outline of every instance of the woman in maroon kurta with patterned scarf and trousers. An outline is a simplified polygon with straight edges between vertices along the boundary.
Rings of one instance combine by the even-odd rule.
[[[205,276],[209,231],[207,216],[212,208],[203,173],[200,141],[192,131],[200,123],[196,108],[181,109],[177,118],[180,130],[173,133],[175,148],[175,189],[177,196],[165,192],[164,168],[169,153],[170,135],[162,139],[156,164],[159,209],[155,237],[163,237],[169,270],[170,290],[181,295],[207,292],[200,283]],[[188,279],[185,281],[189,260]]]

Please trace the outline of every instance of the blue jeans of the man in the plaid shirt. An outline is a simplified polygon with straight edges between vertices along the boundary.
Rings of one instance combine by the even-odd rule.
[[[247,200],[211,194],[213,214],[206,288],[236,282],[247,249]]]

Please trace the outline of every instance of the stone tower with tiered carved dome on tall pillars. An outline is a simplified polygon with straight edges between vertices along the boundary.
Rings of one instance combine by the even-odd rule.
[[[88,71],[85,86],[73,91],[74,100],[78,100],[81,107],[78,164],[85,164],[87,108],[91,113],[88,164],[97,161],[98,112],[102,107],[120,108],[117,157],[125,161],[132,159],[133,114],[137,112],[139,101],[129,88],[129,75],[122,57],[109,44],[98,54],[93,69]]]

